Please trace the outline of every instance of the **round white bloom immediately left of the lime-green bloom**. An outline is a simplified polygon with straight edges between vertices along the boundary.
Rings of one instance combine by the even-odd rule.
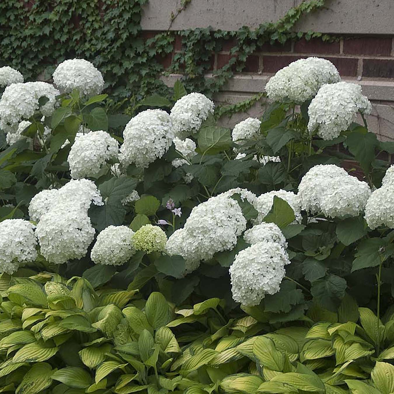
[[[134,255],[131,243],[134,231],[127,226],[108,226],[100,231],[90,253],[96,264],[120,266]]]

